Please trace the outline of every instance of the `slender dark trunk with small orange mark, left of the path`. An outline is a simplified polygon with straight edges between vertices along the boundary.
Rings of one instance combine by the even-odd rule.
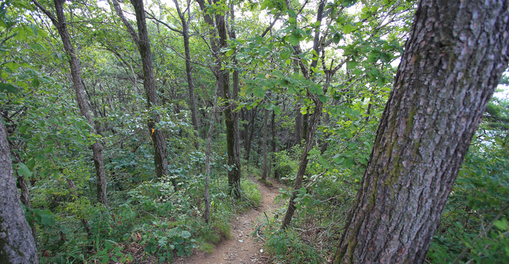
[[[155,175],[158,178],[168,176],[168,150],[166,149],[166,139],[164,133],[156,124],[160,121],[157,111],[153,110],[158,106],[158,93],[155,88],[155,77],[152,64],[152,52],[150,48],[149,33],[147,32],[147,21],[142,0],[131,0],[131,4],[136,12],[136,24],[138,25],[138,50],[143,64],[143,86],[147,93],[147,108],[149,109],[149,133],[154,145],[154,165]],[[177,189],[175,181],[173,187]]]

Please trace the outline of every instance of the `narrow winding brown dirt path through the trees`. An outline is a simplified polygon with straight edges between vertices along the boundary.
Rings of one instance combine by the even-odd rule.
[[[279,195],[281,184],[274,179],[268,179],[274,187],[268,187],[256,178],[249,178],[258,184],[258,190],[262,195],[261,204],[257,208],[251,208],[246,213],[237,215],[230,222],[230,238],[220,241],[212,250],[212,254],[196,250],[193,255],[182,259],[173,260],[175,264],[265,264],[270,263],[270,256],[263,250],[263,243],[257,241],[257,236],[252,236],[254,230],[263,224],[264,212],[269,214],[281,206],[274,204],[274,198]]]

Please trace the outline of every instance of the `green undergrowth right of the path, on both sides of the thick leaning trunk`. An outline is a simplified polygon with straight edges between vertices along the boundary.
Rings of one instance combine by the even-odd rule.
[[[490,107],[501,108],[500,104],[506,103],[495,100]],[[376,129],[372,122],[356,131],[351,128],[355,122],[339,121],[343,128],[336,130],[336,136],[340,137],[329,138],[327,151],[321,156],[313,156],[318,149],[310,152],[309,176],[303,186],[324,174],[312,187],[298,190],[292,227],[280,230],[288,203],[266,218],[262,237],[274,263],[332,263]],[[494,125],[500,128],[499,123],[485,121],[470,146],[426,263],[509,263],[509,139],[505,129],[493,130]],[[281,182],[290,187],[290,191],[280,190],[279,198],[285,201],[292,194],[299,150],[294,147],[274,155]]]

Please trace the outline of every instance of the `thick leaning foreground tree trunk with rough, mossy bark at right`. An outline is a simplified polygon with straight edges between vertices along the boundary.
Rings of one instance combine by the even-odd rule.
[[[334,263],[424,262],[508,45],[508,0],[420,1]]]

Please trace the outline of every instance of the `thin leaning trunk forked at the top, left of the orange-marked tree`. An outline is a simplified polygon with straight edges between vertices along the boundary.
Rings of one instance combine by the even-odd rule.
[[[65,21],[65,15],[63,13],[63,3],[65,0],[54,0],[56,18],[52,13],[48,12],[41,4],[37,1],[34,1],[34,4],[41,10],[41,12],[45,13],[46,16],[52,21],[53,25],[58,29],[58,34],[60,34],[62,38],[63,47],[65,49],[65,53],[69,56],[69,66],[71,68],[72,82],[74,86],[74,92],[76,93],[76,101],[78,102],[78,108],[80,108],[80,113],[87,119],[87,123],[91,126],[91,133],[96,133],[94,129],[94,122],[90,117],[89,108],[87,101],[85,100],[85,96],[83,95],[83,79],[81,77],[81,66],[80,66],[80,58],[76,56],[76,52],[74,51],[74,45],[72,45],[71,37],[69,36],[69,32],[67,32],[67,23]],[[94,167],[96,168],[96,177],[97,177],[97,200],[101,204],[108,204],[108,200],[106,197],[106,173],[105,173],[105,164],[102,160],[102,149],[99,145],[99,141],[96,141],[92,146],[93,159],[94,159]]]

